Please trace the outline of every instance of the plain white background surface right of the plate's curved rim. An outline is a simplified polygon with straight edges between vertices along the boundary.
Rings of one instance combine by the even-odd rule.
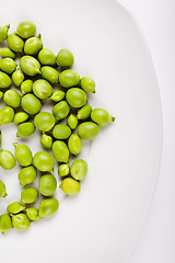
[[[163,110],[161,173],[147,222],[129,263],[175,262],[175,1],[125,0],[155,67]]]

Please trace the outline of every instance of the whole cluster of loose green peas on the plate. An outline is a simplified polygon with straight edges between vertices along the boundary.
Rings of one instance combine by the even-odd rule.
[[[34,36],[36,26],[32,22],[21,22],[13,34],[8,34],[9,27],[0,26],[0,42],[7,39],[8,43],[8,47],[0,49],[0,89],[4,90],[0,91],[0,99],[7,104],[0,110],[0,125],[16,123],[16,137],[28,137],[36,128],[39,129],[42,146],[51,149],[52,155],[43,150],[33,157],[26,145],[13,144],[16,161],[22,167],[19,173],[22,186],[34,182],[37,170],[46,174],[40,176],[38,190],[25,187],[21,193],[21,202],[10,204],[8,214],[0,216],[2,233],[12,227],[27,229],[31,221],[57,211],[59,203],[52,197],[57,181],[51,174],[55,160],[59,163],[58,174],[62,178],[59,187],[68,195],[80,192],[80,181],[86,175],[88,163],[77,159],[70,167],[69,157],[78,156],[82,140],[92,140],[100,133],[100,126],[106,126],[115,119],[106,110],[92,110],[86,104],[86,93],[95,93],[95,82],[89,77],[80,79],[79,73],[70,69],[74,62],[70,50],[61,49],[56,56],[50,49],[43,48],[40,35]],[[14,61],[16,54],[20,54],[19,68]],[[20,94],[9,89],[12,82],[20,88]],[[55,83],[59,83],[59,88],[52,91]],[[55,103],[52,114],[40,112],[43,100]],[[63,119],[67,124],[60,123]],[[1,149],[0,165],[10,170],[15,165],[15,158],[11,151]],[[38,208],[27,208],[27,204],[37,199],[38,191],[45,198]],[[7,196],[2,181],[0,196]]]

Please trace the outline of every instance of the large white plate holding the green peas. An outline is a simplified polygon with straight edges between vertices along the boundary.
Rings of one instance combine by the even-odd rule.
[[[96,81],[90,103],[116,116],[92,144],[81,193],[62,198],[52,218],[1,237],[1,261],[126,262],[154,194],[162,148],[158,81],[140,28],[114,0],[7,0],[0,18],[11,32],[32,20],[45,46],[70,48],[75,69]],[[3,147],[11,144],[5,130]],[[18,170],[5,176],[16,180]]]

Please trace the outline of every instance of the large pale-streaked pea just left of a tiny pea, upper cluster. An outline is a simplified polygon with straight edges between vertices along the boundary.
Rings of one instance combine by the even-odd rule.
[[[39,99],[47,99],[52,93],[52,87],[47,80],[38,79],[33,84],[33,92]]]

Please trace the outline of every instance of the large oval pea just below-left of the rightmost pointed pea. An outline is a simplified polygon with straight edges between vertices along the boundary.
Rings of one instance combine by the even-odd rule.
[[[83,140],[92,140],[100,133],[100,127],[92,122],[85,122],[79,125],[78,135]]]

